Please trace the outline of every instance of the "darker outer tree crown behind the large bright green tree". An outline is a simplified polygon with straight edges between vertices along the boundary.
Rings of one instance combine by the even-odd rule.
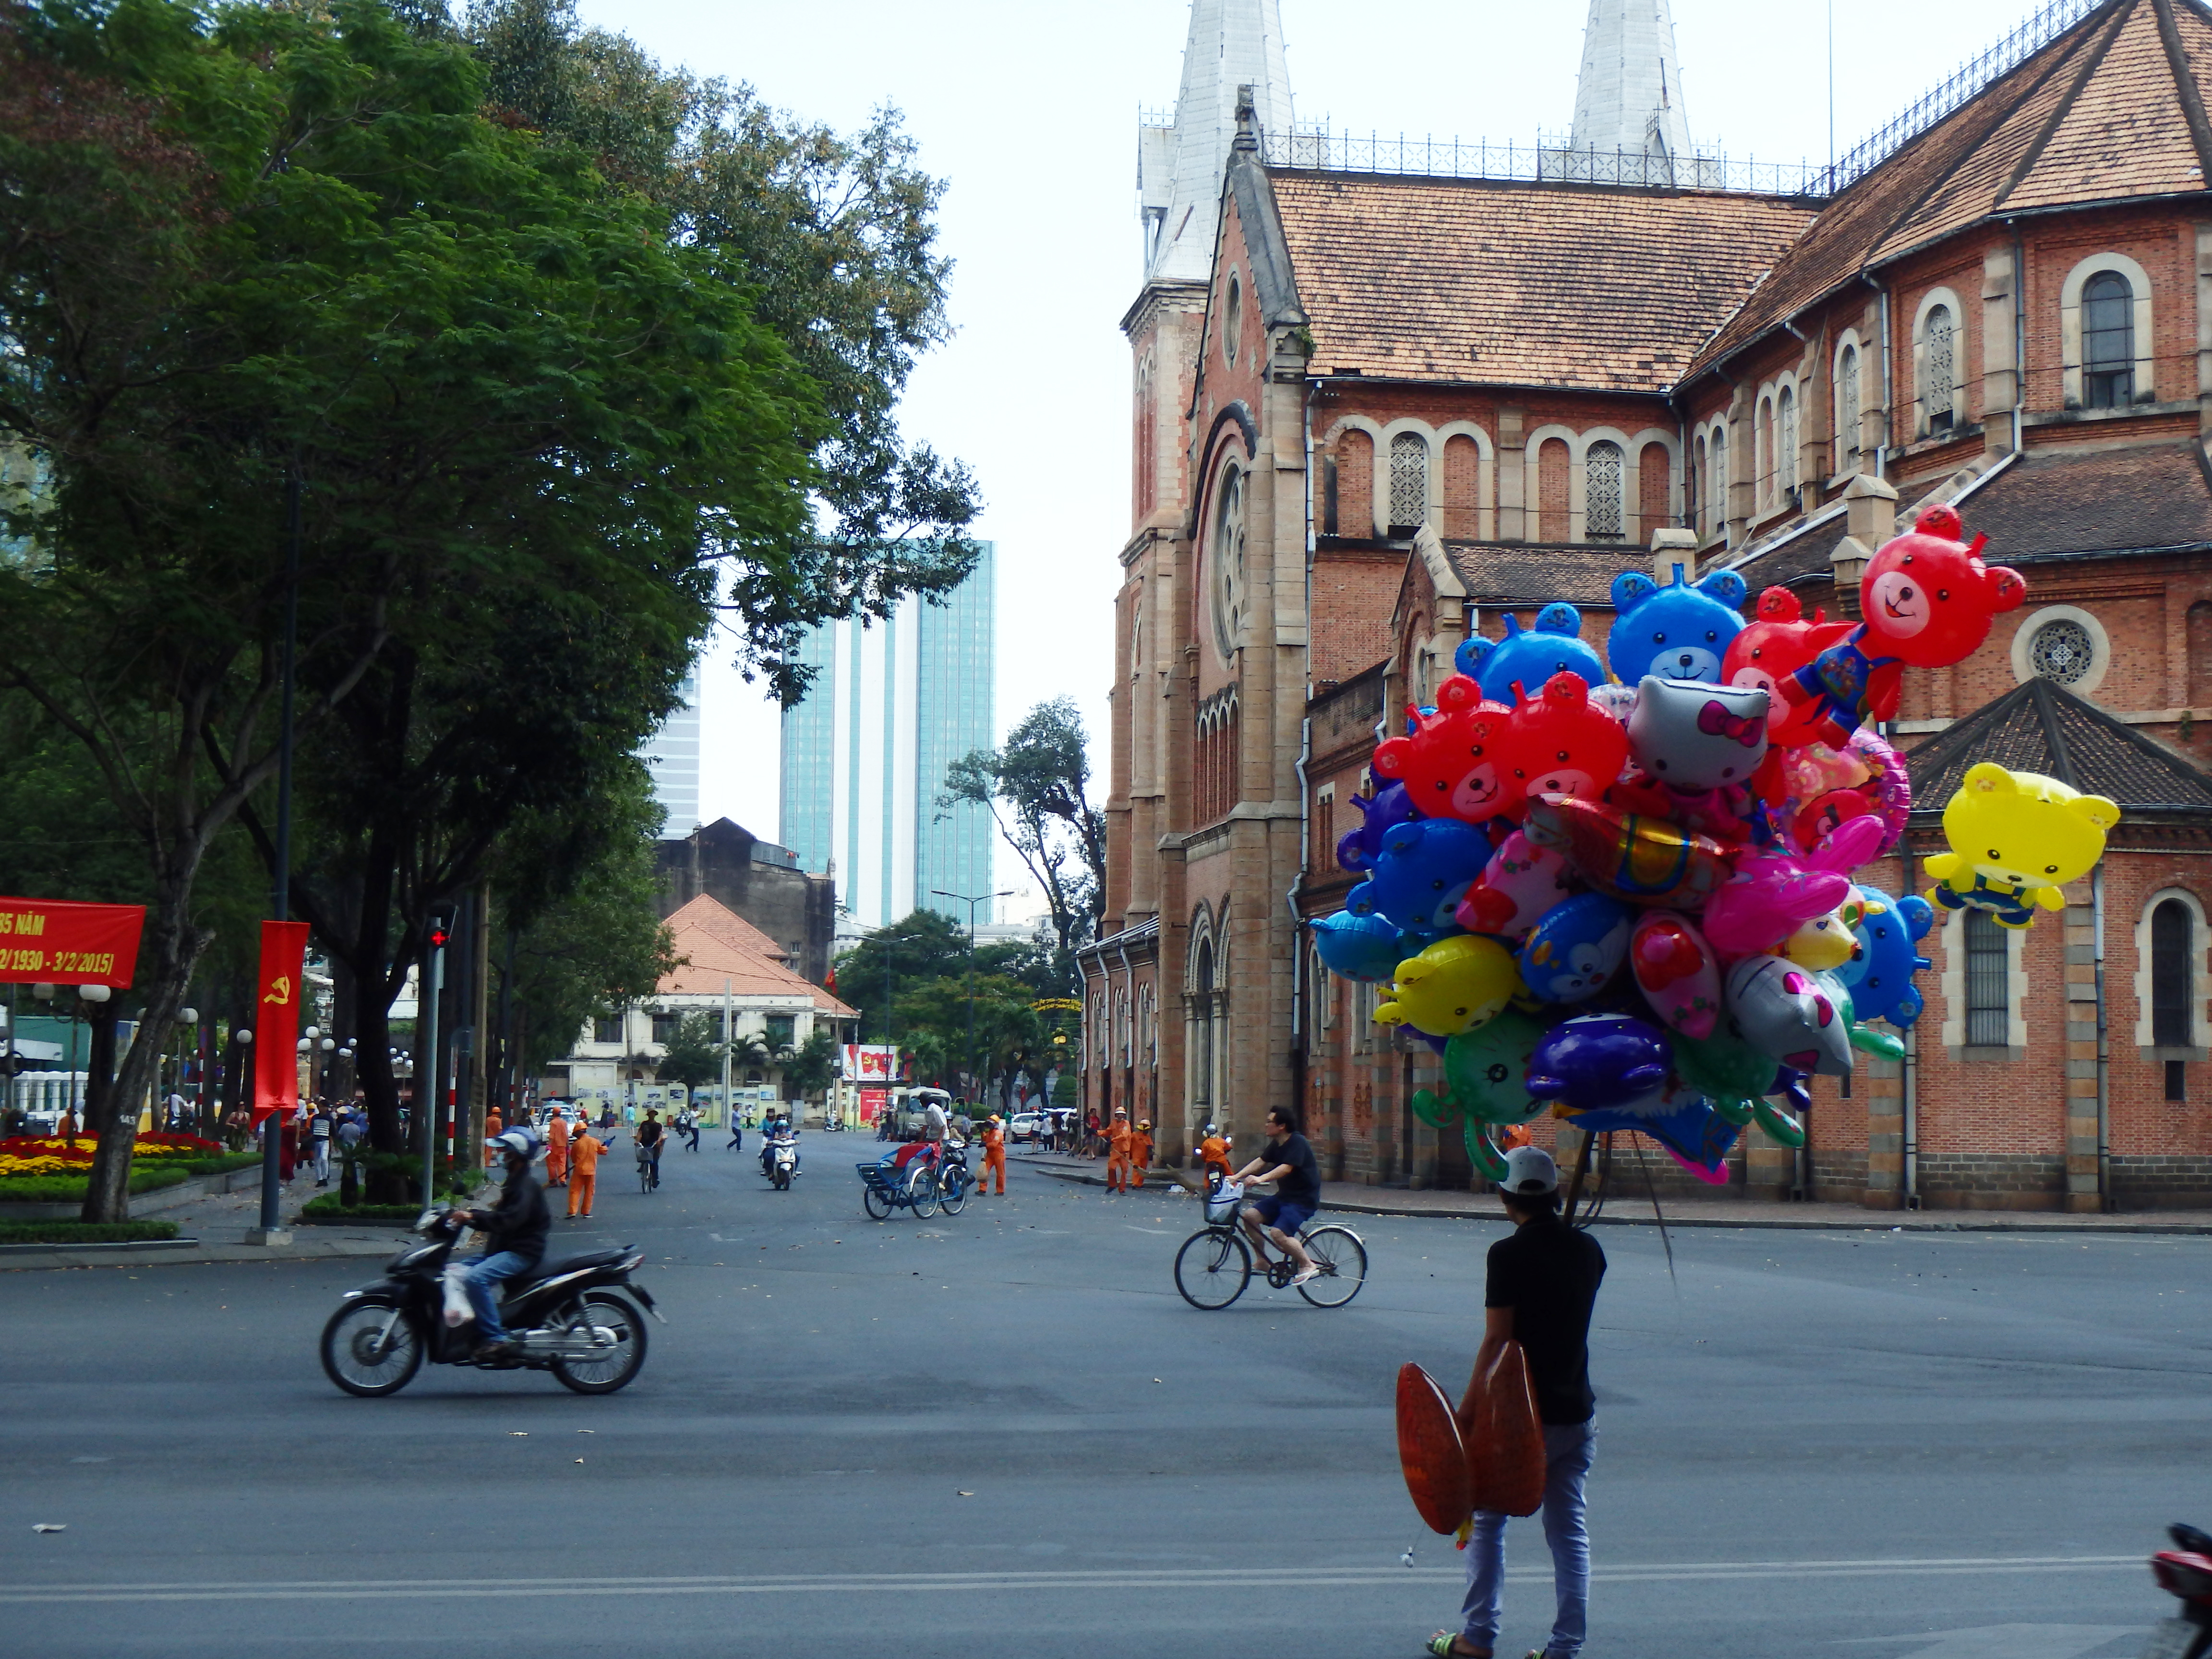
[[[672,241],[745,272],[761,323],[818,387],[823,511],[785,544],[787,568],[739,568],[728,599],[750,624],[739,666],[796,699],[810,675],[785,655],[799,628],[887,615],[975,564],[975,480],[898,429],[916,361],[951,336],[951,261],[936,248],[945,186],[916,166],[898,111],[836,133],[752,86],[664,69],[624,35],[582,27],[573,0],[478,0],[460,35],[502,119],[577,146],[650,197]]]

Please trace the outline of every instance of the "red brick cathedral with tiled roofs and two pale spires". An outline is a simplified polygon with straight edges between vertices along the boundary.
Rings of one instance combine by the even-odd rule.
[[[2212,9],[2059,0],[1836,168],[1752,170],[1690,142],[1663,0],[1593,0],[1571,139],[1376,146],[1296,124],[1276,0],[1194,0],[1121,323],[1086,1104],[1181,1157],[1296,1102],[1332,1177],[1467,1186],[1458,1128],[1411,1108],[1431,1051],[1305,927],[1356,880],[1336,838],[1378,739],[1462,639],[1548,602],[1604,650],[1624,571],[1732,568],[1747,604],[1849,617],[1874,549],[1949,502],[2028,599],[1907,675],[1887,737],[1916,810],[1871,880],[1929,885],[1980,759],[2124,821],[2064,914],[1944,914],[1905,1060],[1818,1079],[1809,1146],[1747,1130],[1732,1179],[2212,1201],[2208,102]]]

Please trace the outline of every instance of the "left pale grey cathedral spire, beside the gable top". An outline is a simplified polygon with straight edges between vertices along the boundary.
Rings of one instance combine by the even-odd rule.
[[[1146,283],[1203,283],[1212,274],[1239,86],[1252,88],[1263,133],[1290,131],[1281,0],[1190,0],[1175,122],[1137,128]]]

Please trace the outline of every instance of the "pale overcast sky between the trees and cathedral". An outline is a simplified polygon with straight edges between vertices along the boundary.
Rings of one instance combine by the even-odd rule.
[[[1281,4],[1301,122],[1498,142],[1571,124],[1577,0]],[[1851,0],[1834,40],[1838,148],[2035,9]],[[1115,551],[1130,529],[1117,325],[1141,274],[1135,122],[1139,106],[1175,102],[1188,0],[582,0],[582,11],[814,119],[849,128],[885,102],[905,111],[920,164],[949,184],[942,248],[958,261],[958,334],[916,374],[905,425],[982,480],[978,533],[1000,549],[1000,730],[1068,692],[1102,752]],[[1699,146],[1827,159],[1820,0],[1674,0],[1674,33]],[[703,714],[706,816],[774,838],[776,717],[728,650],[710,657]]]

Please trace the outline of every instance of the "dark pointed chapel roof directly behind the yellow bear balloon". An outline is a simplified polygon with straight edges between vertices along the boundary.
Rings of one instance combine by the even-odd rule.
[[[1975,761],[2042,772],[2084,794],[2101,794],[2117,801],[2124,816],[2212,825],[2212,776],[2042,677],[1905,757],[1913,821],[1938,821]]]

